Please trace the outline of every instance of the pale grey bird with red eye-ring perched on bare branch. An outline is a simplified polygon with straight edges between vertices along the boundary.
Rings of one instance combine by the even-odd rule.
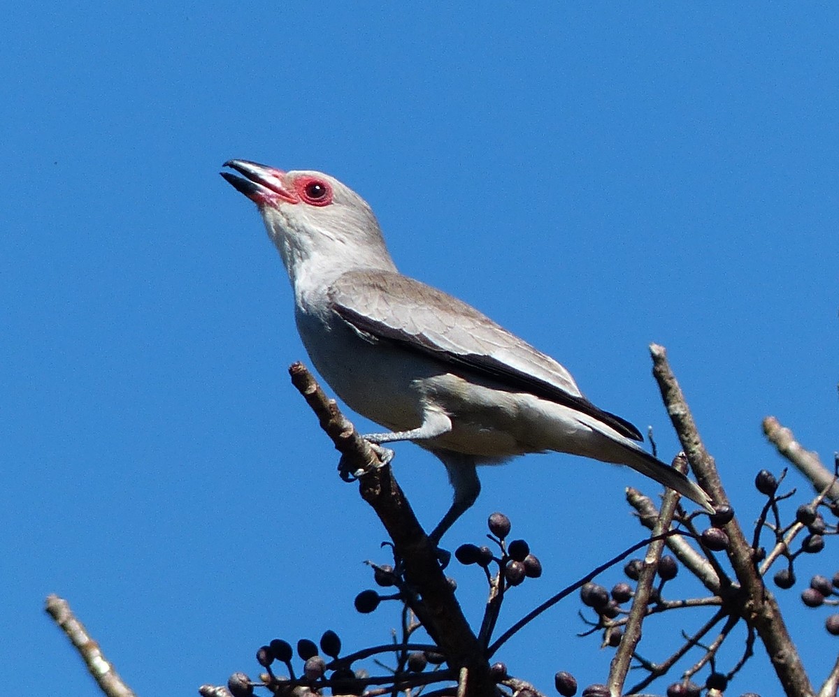
[[[628,465],[713,512],[683,474],[638,447],[628,421],[591,404],[554,359],[474,307],[396,270],[370,206],[320,172],[230,160],[289,272],[294,318],[315,368],[353,410],[446,465],[439,542],[475,503],[476,466],[557,451]]]

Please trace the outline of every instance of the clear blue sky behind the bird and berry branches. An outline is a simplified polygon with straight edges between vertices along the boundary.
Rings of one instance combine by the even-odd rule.
[[[306,357],[288,281],[217,174],[231,157],[341,178],[402,271],[560,359],[669,458],[646,348],[663,343],[746,522],[755,472],[783,466],[763,416],[836,450],[832,5],[149,0],[5,19],[0,666],[18,691],[50,675],[97,694],[42,615],[50,592],[140,694],[257,674],[274,637],[333,628],[352,648],[398,622],[352,610],[383,530],[289,384]],[[394,467],[434,524],[443,468],[409,444]],[[561,455],[482,482],[449,544],[503,510],[545,566],[502,628],[641,537],[626,485],[657,491]],[[800,578],[836,571],[833,552]],[[480,576],[453,573],[477,625]],[[784,607],[820,684],[835,640],[798,591]],[[559,669],[604,679],[577,610],[499,658],[545,690]],[[672,622],[648,658],[701,616]],[[768,674],[758,651],[732,692],[773,694]]]

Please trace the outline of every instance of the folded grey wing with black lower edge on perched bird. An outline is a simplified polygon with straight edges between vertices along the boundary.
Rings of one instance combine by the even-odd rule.
[[[571,374],[554,359],[456,297],[393,271],[370,269],[343,274],[328,295],[331,310],[371,340],[433,355],[643,440],[631,423],[586,400]]]

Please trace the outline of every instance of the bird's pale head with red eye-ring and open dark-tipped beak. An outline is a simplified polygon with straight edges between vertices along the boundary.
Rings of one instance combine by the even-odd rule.
[[[300,267],[393,268],[373,210],[351,188],[322,172],[283,172],[248,160],[228,160],[221,172],[257,204],[268,236],[294,281]]]

